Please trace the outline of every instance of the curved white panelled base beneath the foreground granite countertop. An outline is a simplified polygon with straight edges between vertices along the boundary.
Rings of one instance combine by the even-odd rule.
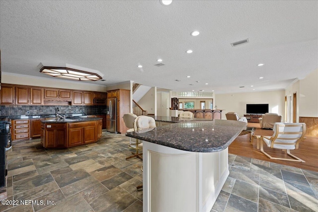
[[[229,176],[228,148],[183,151],[143,141],[143,211],[210,212]]]

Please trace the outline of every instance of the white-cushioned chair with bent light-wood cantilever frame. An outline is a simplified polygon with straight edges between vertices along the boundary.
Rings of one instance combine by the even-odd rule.
[[[306,135],[306,124],[305,123],[281,123],[277,122],[274,124],[273,128],[274,134],[270,136],[261,136],[260,137],[260,151],[263,152],[270,159],[277,160],[288,160],[288,161],[297,161],[305,162],[299,157],[290,153],[291,149],[298,149],[299,143],[305,140]],[[286,153],[295,158],[280,158],[272,157],[264,151],[263,145],[267,145],[270,148],[283,149]]]

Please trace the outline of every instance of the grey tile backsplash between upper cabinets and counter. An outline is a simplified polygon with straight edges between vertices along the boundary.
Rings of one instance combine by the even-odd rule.
[[[21,116],[21,115],[48,115],[55,114],[56,108],[60,114],[104,114],[106,106],[34,106],[34,105],[0,105],[0,116]]]

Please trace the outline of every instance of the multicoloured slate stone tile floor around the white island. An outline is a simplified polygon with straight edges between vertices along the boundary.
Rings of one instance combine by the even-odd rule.
[[[7,200],[38,204],[0,205],[0,212],[142,212],[142,161],[125,160],[128,143],[105,131],[96,143],[60,150],[45,150],[39,139],[14,142]],[[318,172],[233,154],[229,167],[211,212],[318,211]]]

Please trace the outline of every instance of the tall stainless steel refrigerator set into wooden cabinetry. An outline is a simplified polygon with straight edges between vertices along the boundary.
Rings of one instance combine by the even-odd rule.
[[[117,98],[107,99],[106,130],[117,133]]]

